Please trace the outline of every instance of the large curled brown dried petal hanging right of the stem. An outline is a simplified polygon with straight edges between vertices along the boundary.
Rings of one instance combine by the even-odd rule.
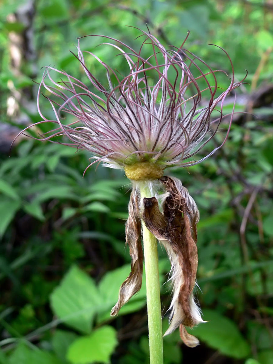
[[[165,335],[180,325],[181,339],[188,346],[199,341],[188,334],[183,325],[193,327],[203,322],[193,297],[197,272],[197,232],[199,212],[194,200],[176,178],[162,177],[166,197],[163,214],[155,197],[143,199],[143,220],[152,234],[165,247],[171,261],[173,299],[171,302],[170,327]]]

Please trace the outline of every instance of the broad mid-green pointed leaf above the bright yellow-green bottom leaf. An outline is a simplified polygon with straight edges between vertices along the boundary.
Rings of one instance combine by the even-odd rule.
[[[50,302],[54,313],[67,325],[89,333],[101,297],[94,280],[77,266],[72,266],[51,294]]]

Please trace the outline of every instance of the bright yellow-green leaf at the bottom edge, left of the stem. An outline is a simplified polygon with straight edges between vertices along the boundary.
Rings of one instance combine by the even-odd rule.
[[[115,329],[103,326],[91,335],[75,340],[68,349],[67,359],[73,364],[110,363],[117,344]]]

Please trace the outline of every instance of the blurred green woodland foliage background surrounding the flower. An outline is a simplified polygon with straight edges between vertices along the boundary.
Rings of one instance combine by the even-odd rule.
[[[225,146],[201,165],[167,172],[182,180],[200,210],[197,296],[209,322],[194,329],[201,341],[194,349],[177,332],[164,338],[165,364],[272,364],[273,1],[0,4],[0,363],[149,363],[145,282],[117,318],[109,316],[130,270],[124,248],[130,186],[123,172],[92,166],[82,178],[88,153],[25,136],[9,157],[16,134],[41,120],[35,82],[42,66],[81,79],[69,52],[76,52],[77,37],[104,34],[138,49],[139,31],[127,25],[147,24],[166,47],[179,47],[190,30],[185,47],[227,72],[218,76],[220,87],[229,84],[231,67],[209,43],[228,52],[236,80],[248,71],[248,84],[236,90],[236,111],[249,114],[234,116]],[[87,37],[81,48],[126,74],[117,52],[98,44]],[[88,67],[106,80],[94,59]],[[225,112],[233,101],[234,94]],[[54,117],[44,98],[41,109]],[[222,138],[220,130],[213,143]],[[159,254],[166,328],[170,266]]]

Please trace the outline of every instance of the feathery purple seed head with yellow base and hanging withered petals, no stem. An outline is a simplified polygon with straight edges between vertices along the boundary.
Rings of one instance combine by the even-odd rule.
[[[126,59],[128,72],[125,76],[87,52],[105,68],[108,86],[103,86],[88,70],[78,41],[76,57],[89,84],[64,71],[47,67],[38,94],[38,110],[43,120],[34,125],[56,123],[55,130],[42,135],[43,139],[54,138],[52,141],[56,142],[55,137],[64,135],[70,145],[90,151],[95,161],[89,166],[103,161],[108,167],[124,168],[126,176],[134,181],[126,223],[131,273],[120,287],[118,302],[111,315],[118,314],[141,289],[142,220],[164,246],[171,261],[173,298],[170,327],[165,335],[179,327],[184,343],[195,347],[199,341],[185,327],[203,322],[193,295],[198,264],[196,227],[199,212],[182,183],[176,178],[162,177],[163,170],[195,165],[225,143],[233,112],[222,145],[199,161],[192,159],[214,137],[223,118],[225,98],[240,83],[234,83],[233,66],[227,54],[232,77],[229,87],[219,95],[217,71],[183,49],[185,41],[179,48],[166,50],[153,35],[142,32],[142,36],[144,41],[138,52],[119,40],[100,36],[110,39],[113,43],[106,44],[116,48]],[[147,47],[150,48],[148,56]],[[50,71],[58,72],[62,81],[56,82]],[[39,98],[44,89],[55,120],[45,118],[40,111]],[[202,94],[206,96],[206,102],[201,102]],[[211,112],[216,107],[219,117],[211,122]],[[72,123],[62,120],[61,113],[72,115]],[[141,199],[140,186],[143,184],[153,197]]]

